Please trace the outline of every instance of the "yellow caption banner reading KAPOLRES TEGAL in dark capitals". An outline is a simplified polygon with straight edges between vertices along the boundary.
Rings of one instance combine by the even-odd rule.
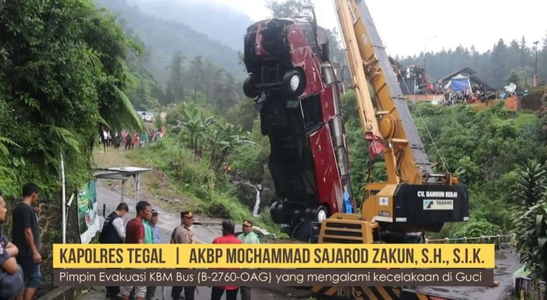
[[[54,244],[54,268],[494,268],[493,244]]]

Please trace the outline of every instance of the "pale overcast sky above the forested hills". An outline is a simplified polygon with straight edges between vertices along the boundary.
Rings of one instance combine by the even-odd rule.
[[[228,4],[253,20],[270,16],[265,0],[202,1]],[[336,27],[331,0],[313,1],[319,25]],[[524,35],[531,46],[534,40],[543,43],[547,34],[547,0],[368,0],[366,4],[393,56],[419,54],[426,40],[428,51],[462,44],[484,52],[499,38],[509,44]]]

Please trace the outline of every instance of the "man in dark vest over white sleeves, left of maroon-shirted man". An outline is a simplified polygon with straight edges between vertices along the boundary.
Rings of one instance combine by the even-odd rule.
[[[103,229],[99,236],[99,243],[101,244],[123,244],[125,240],[125,226],[124,220],[122,219],[127,212],[129,212],[129,207],[126,203],[122,202],[118,204],[118,207],[115,211],[112,211],[104,219]],[[120,292],[119,286],[107,286],[106,287],[106,298],[114,299],[116,295]]]

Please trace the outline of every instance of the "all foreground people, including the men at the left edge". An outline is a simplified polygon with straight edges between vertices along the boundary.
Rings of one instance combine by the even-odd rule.
[[[22,199],[13,209],[11,219],[11,241],[3,235],[0,228],[0,300],[32,300],[40,285],[42,256],[40,255],[39,208],[36,207],[40,189],[36,184],[27,183],[22,187]],[[124,225],[123,217],[129,213],[126,203],[118,207],[104,219],[99,236],[103,244],[194,244],[196,239],[191,227],[194,214],[182,211],[181,224],[174,228],[169,241],[162,240],[158,220],[158,211],[152,205],[141,201],[136,205],[136,216]],[[7,219],[6,203],[0,191],[0,226]],[[235,224],[231,220],[222,222],[222,236],[213,240],[213,244],[260,244],[253,232],[253,223],[242,223],[243,233],[235,236]],[[106,297],[115,299],[121,293],[121,299],[155,300],[154,286],[108,286]],[[214,286],[211,288],[211,300],[220,300],[226,294],[226,300],[236,300],[241,291],[242,300],[251,299],[251,287]],[[184,295],[181,295],[184,292]],[[195,286],[173,286],[173,300],[193,300]]]

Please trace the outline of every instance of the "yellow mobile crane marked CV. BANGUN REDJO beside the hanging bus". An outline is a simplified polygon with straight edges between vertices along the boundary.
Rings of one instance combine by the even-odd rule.
[[[366,4],[334,0],[334,6],[363,132],[371,156],[383,155],[387,181],[366,184],[362,215],[323,221],[319,243],[420,243],[424,231],[468,221],[467,187],[451,173],[433,172]]]

